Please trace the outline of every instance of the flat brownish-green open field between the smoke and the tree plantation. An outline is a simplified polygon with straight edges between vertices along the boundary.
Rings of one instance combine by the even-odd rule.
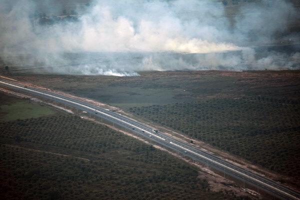
[[[139,73],[140,76],[118,77],[12,72],[9,77],[121,108],[257,95],[282,98],[300,87],[300,70]]]

